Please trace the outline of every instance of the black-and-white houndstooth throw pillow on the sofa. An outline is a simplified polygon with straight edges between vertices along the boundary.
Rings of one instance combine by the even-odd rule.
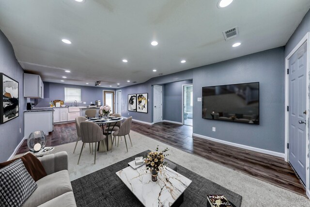
[[[0,169],[0,207],[20,207],[37,189],[21,159]]]

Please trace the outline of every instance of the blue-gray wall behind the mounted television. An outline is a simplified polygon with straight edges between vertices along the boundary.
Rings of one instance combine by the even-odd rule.
[[[284,153],[283,57],[280,47],[195,68],[193,133]],[[260,82],[260,125],[202,118],[202,87],[246,82]]]

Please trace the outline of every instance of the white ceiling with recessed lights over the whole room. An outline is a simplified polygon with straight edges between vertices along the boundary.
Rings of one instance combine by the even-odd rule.
[[[22,67],[44,81],[116,88],[283,46],[310,8],[310,0],[217,2],[0,0],[0,30]],[[234,26],[240,35],[226,42],[222,32]]]

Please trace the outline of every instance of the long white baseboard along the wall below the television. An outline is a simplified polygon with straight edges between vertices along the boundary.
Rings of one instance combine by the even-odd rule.
[[[256,148],[256,147],[252,147],[252,146],[247,146],[247,145],[243,145],[243,144],[238,144],[238,143],[231,143],[231,142],[227,142],[227,141],[223,141],[223,140],[218,140],[218,139],[215,139],[215,138],[212,138],[212,137],[207,137],[207,136],[203,136],[203,135],[195,134],[195,133],[193,133],[193,136],[199,137],[199,138],[202,138],[202,139],[206,139],[206,140],[210,140],[210,141],[213,141],[213,142],[217,142],[217,143],[227,144],[227,145],[239,147],[239,148],[242,148],[242,149],[248,149],[248,150],[251,150],[251,151],[260,152],[260,153],[264,153],[264,154],[267,154],[267,155],[272,155],[272,156],[284,158],[284,153],[274,152],[274,151],[270,151],[270,150],[266,150],[266,149],[260,149],[260,148]]]

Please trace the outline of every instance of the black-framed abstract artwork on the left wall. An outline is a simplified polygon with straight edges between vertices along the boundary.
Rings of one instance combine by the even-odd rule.
[[[18,82],[0,73],[0,123],[19,116]]]

